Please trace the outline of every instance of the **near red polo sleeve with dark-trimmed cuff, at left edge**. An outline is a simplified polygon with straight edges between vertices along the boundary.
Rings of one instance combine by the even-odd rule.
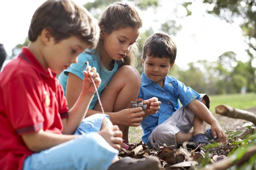
[[[7,117],[18,134],[43,128],[40,83],[32,77],[16,76],[3,87]]]

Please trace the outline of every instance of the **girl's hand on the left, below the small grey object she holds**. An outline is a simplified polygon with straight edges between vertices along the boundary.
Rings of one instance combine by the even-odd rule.
[[[141,107],[124,109],[116,112],[116,121],[113,124],[120,124],[125,126],[139,126],[142,121],[144,112]]]

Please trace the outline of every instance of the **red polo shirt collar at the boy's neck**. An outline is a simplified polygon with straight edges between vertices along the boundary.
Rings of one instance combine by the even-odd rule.
[[[19,56],[25,59],[31,65],[33,65],[34,68],[37,69],[38,72],[41,73],[43,76],[52,77],[52,78],[56,76],[56,74],[52,73],[49,68],[48,68],[48,71],[46,72],[46,70],[41,65],[41,63],[39,63],[39,61],[35,58],[34,54],[27,47],[22,47],[22,53],[20,53]]]

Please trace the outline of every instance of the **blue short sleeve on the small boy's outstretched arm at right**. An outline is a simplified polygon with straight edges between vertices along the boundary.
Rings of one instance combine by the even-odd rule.
[[[185,86],[183,82],[176,79],[174,83],[174,95],[176,96],[176,98],[180,100],[183,107],[186,107],[193,100],[200,97],[200,94],[198,94],[192,88]]]

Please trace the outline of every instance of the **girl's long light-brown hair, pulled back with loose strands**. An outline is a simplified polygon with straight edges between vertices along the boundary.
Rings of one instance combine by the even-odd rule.
[[[135,6],[129,4],[122,3],[114,3],[107,7],[98,21],[99,26],[103,26],[101,28],[101,33],[105,32],[107,34],[111,34],[115,30],[120,30],[125,27],[132,27],[135,29],[139,29],[142,27],[142,19],[139,16],[139,9]],[[96,48],[96,52],[99,55],[99,58],[102,59],[102,49],[103,49],[104,39],[99,38],[99,43]],[[121,61],[117,62],[118,66],[124,65],[132,65],[135,63],[135,51],[138,50],[137,44],[133,43],[133,48],[131,52],[121,59]]]

